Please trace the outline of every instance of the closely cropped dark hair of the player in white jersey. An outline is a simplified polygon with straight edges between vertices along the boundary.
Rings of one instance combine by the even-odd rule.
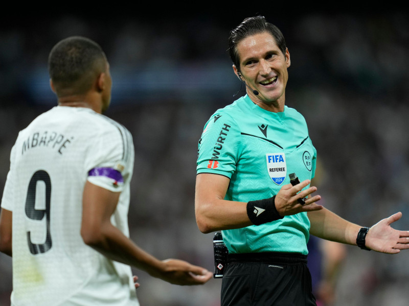
[[[57,96],[86,93],[106,67],[106,56],[100,45],[81,36],[59,41],[48,58]]]

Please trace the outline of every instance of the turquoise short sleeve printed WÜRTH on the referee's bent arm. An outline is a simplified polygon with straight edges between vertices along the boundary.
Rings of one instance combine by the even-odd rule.
[[[198,144],[197,173],[232,177],[240,156],[241,134],[234,119],[215,113],[206,123]]]

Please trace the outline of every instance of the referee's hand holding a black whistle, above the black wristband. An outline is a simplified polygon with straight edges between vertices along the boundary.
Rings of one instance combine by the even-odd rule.
[[[310,184],[310,180],[305,180],[300,184],[292,186],[284,185],[276,195],[276,209],[280,216],[295,215],[301,212],[311,212],[323,209],[323,206],[315,203],[321,199],[320,195],[311,196],[316,191],[316,187],[310,187],[302,190]],[[305,205],[301,205],[298,199],[305,198]]]

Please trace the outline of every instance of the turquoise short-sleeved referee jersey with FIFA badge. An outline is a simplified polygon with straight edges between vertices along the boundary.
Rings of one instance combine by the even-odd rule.
[[[285,106],[284,112],[272,113],[245,95],[216,111],[206,123],[197,173],[229,177],[224,199],[248,202],[277,194],[290,183],[289,173],[296,173],[300,182],[312,179],[315,161],[316,150],[299,112]],[[299,213],[222,234],[231,253],[307,254],[309,227],[307,213]]]

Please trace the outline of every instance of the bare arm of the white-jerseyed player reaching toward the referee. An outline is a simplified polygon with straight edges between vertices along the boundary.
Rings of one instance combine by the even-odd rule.
[[[111,260],[144,270],[171,284],[200,285],[210,279],[212,273],[205,268],[181,260],[156,259],[113,226],[110,217],[119,195],[88,181],[85,183],[81,236],[87,245]]]

